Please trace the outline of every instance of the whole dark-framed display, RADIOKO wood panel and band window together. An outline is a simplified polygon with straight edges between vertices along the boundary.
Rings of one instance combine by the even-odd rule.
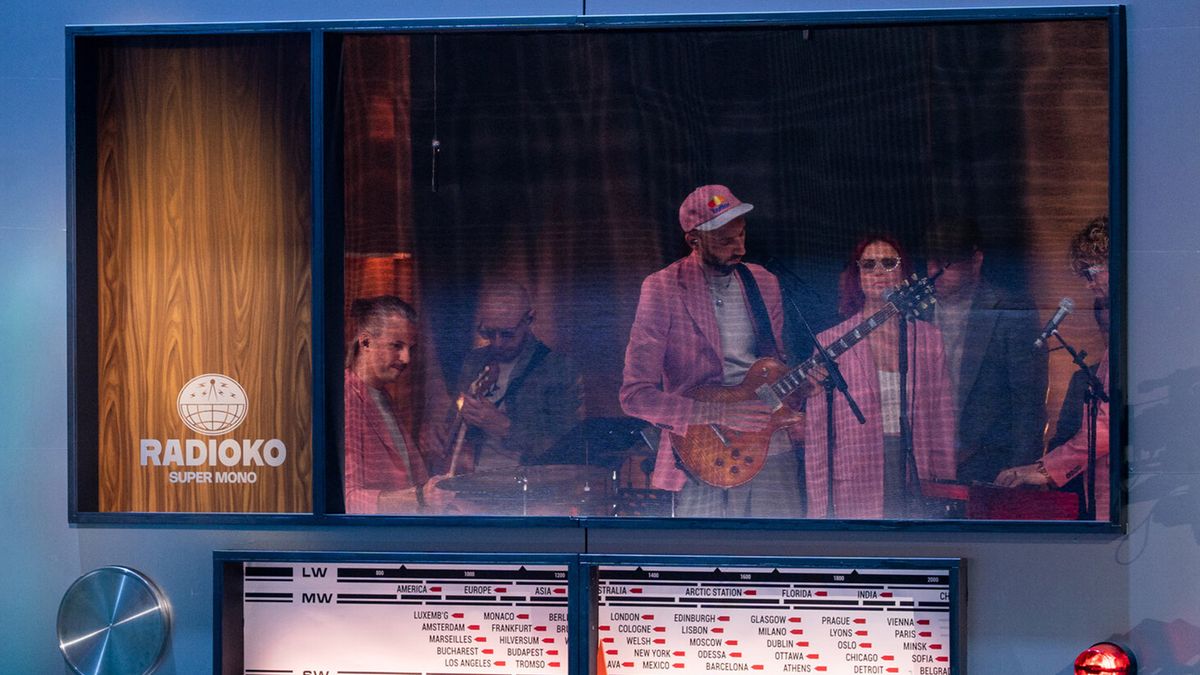
[[[1123,31],[72,26],[71,518],[1115,531]]]

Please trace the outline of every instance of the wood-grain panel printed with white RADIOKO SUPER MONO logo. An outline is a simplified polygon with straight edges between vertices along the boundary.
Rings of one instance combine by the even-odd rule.
[[[305,36],[122,40],[98,58],[100,501],[107,512],[308,512],[312,222]],[[226,438],[278,467],[143,467],[139,442],[208,440],[180,388],[245,388]],[[173,484],[172,471],[253,484]]]

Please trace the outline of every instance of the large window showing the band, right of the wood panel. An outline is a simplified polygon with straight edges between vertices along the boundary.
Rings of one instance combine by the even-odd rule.
[[[1116,23],[787,20],[334,41],[347,513],[1110,521]]]

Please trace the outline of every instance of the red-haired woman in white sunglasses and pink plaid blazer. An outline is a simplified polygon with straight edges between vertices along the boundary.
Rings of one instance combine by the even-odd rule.
[[[887,294],[912,274],[912,261],[888,235],[858,243],[839,279],[838,310],[845,321],[817,335],[829,345],[888,306]],[[912,462],[900,434],[900,315],[871,330],[838,358],[850,394],[866,424],[834,399],[834,509],[827,508],[826,398],[809,399],[805,466],[809,518],[919,518],[920,480],[954,478],[954,410],[942,336],[923,321],[910,322],[906,376]],[[907,467],[907,468],[906,468]]]

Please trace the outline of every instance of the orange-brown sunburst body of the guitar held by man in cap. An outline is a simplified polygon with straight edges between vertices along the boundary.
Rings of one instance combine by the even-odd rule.
[[[706,384],[688,392],[697,401],[758,400],[757,389],[787,375],[788,368],[773,358],[758,359],[746,371],[740,384]],[[804,420],[803,413],[784,405],[761,431],[736,431],[719,425],[691,424],[683,436],[671,435],[671,446],[692,476],[715,488],[736,488],[749,483],[767,461],[770,437],[775,431]],[[714,429],[715,426],[715,429]]]

